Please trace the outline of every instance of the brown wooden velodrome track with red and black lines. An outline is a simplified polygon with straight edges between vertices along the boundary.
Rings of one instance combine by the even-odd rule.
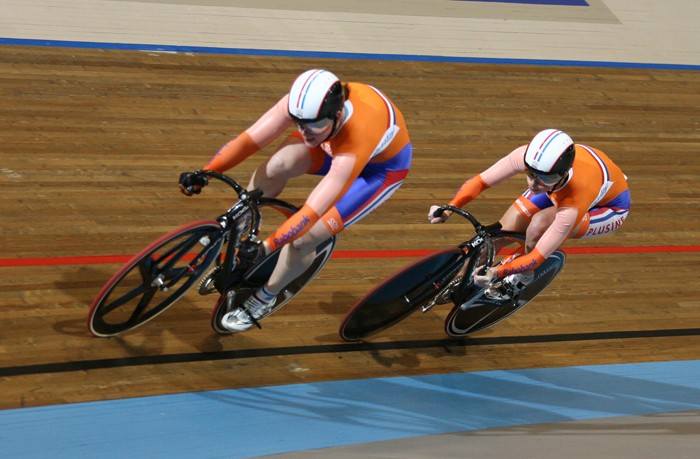
[[[403,188],[343,233],[338,256],[262,330],[218,336],[214,297],[189,293],[140,330],[91,337],[89,305],[138,251],[230,203],[222,188],[186,198],[196,169],[322,66],[383,89],[415,146]],[[0,408],[218,388],[700,356],[700,73],[0,47]],[[426,223],[462,181],[558,127],[608,152],[633,208],[612,236],[567,244],[567,266],[533,304],[466,340],[447,309],[410,317],[368,343],[343,343],[344,313],[376,282],[461,242],[456,219]],[[247,180],[269,153],[232,175]],[[301,203],[315,183],[282,195]],[[496,220],[524,188],[512,180],[470,209]],[[360,251],[386,251],[374,258]],[[376,253],[376,252],[373,252]]]

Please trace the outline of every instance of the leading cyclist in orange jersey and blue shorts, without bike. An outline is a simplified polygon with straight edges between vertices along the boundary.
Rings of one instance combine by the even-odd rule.
[[[226,143],[204,169],[224,172],[292,125],[296,131],[257,168],[248,188],[275,197],[293,177],[324,177],[299,212],[261,244],[261,255],[281,249],[279,261],[267,283],[223,317],[222,326],[233,332],[247,330],[252,318],[268,312],[277,294],[313,261],[315,247],[379,207],[401,186],[411,165],[403,115],[382,92],[312,69],[297,77],[288,94]],[[180,176],[180,188],[188,196],[206,184],[194,173]]]

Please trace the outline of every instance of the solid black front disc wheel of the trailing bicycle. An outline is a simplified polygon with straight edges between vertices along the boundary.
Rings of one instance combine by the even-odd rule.
[[[340,336],[356,341],[378,333],[427,304],[455,277],[467,260],[453,248],[418,260],[369,292],[348,311]]]

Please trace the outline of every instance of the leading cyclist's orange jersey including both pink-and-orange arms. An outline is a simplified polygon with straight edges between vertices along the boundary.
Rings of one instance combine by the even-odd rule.
[[[301,210],[267,239],[271,250],[311,229],[345,195],[368,164],[388,163],[410,143],[403,115],[384,94],[362,83],[347,83],[347,88],[343,124],[334,137],[311,149],[313,163],[308,172],[321,168],[324,157],[332,159],[330,168]],[[293,123],[287,112],[288,97],[283,97],[253,126],[227,143],[205,169],[231,168],[289,128]],[[298,132],[291,136],[301,138]]]

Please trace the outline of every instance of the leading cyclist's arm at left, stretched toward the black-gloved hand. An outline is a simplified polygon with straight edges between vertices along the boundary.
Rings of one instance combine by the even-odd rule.
[[[227,171],[279,137],[292,124],[288,99],[289,95],[284,96],[251,127],[221,147],[204,169]]]

